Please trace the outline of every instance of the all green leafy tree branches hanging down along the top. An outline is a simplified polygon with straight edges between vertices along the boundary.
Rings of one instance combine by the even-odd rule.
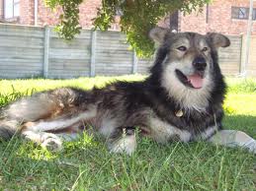
[[[60,24],[56,31],[65,39],[72,39],[79,33],[79,5],[83,0],[44,0],[46,5],[55,9],[62,8]],[[191,13],[201,10],[211,0],[102,0],[102,7],[98,9],[94,20],[94,29],[106,31],[120,15],[121,30],[127,34],[128,42],[135,49],[138,56],[150,56],[153,43],[148,38],[148,32],[162,18],[180,10]]]

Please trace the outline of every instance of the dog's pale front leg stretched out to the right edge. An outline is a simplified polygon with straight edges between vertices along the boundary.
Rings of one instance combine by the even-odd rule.
[[[242,147],[256,154],[256,140],[242,131],[220,130],[209,141],[227,147]]]

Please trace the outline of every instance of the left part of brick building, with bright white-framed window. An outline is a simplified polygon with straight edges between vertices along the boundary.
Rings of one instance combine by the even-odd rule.
[[[80,6],[80,25],[87,29],[97,15],[101,0],[86,0]],[[43,0],[0,0],[0,21],[29,26],[54,26],[58,23],[60,9],[53,13]]]

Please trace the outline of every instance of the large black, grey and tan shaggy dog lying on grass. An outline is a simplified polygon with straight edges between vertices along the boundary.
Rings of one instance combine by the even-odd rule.
[[[18,99],[2,108],[0,137],[19,133],[52,150],[83,131],[106,139],[112,153],[131,155],[136,132],[158,143],[205,140],[256,153],[256,141],[223,130],[223,81],[217,50],[230,45],[220,33],[170,32],[154,28],[157,50],[142,82],[114,82],[84,91],[61,88]]]

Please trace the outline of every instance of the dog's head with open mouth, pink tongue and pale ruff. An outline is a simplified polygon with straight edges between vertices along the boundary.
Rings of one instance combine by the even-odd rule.
[[[214,32],[206,35],[195,32],[173,33],[162,28],[151,30],[149,35],[158,45],[151,72],[160,71],[161,86],[184,106],[204,107],[213,89],[214,78],[221,76],[217,65],[217,49],[229,46],[229,39]],[[193,101],[191,98],[196,100],[189,103]]]

